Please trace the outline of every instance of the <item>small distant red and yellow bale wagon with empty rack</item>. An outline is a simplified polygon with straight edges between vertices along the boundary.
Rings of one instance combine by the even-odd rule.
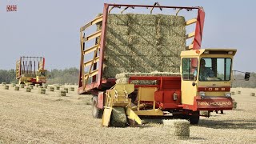
[[[16,79],[19,84],[46,83],[45,58],[21,57],[16,62]]]

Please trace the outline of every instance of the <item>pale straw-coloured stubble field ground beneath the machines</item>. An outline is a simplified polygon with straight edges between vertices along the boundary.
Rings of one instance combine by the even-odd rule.
[[[237,110],[201,118],[182,140],[162,124],[102,127],[91,116],[91,96],[76,90],[62,97],[60,90],[38,94],[36,87],[28,93],[0,86],[0,143],[256,143],[256,97],[250,96],[256,89],[232,89],[237,90],[242,91],[233,96]]]

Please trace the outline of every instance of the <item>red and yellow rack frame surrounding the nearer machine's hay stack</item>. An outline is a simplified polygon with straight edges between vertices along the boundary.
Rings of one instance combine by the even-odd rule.
[[[157,6],[156,6],[157,5]],[[124,10],[128,8],[146,8],[150,9],[150,14],[154,8],[159,9],[174,9],[177,10],[176,15],[178,15],[180,10],[198,10],[198,15],[196,18],[192,18],[186,21],[186,26],[195,24],[194,32],[186,34],[186,39],[194,38],[189,46],[186,46],[186,50],[198,50],[201,49],[202,42],[202,32],[204,26],[205,12],[202,7],[181,7],[181,6],[159,6],[155,3],[154,6],[144,6],[144,5],[120,5],[120,4],[104,4],[103,13],[101,16],[94,18],[94,20],[86,23],[80,29],[80,45],[81,45],[81,60],[80,60],[80,73],[78,82],[78,94],[94,94],[98,95],[98,92],[110,89],[115,85],[115,78],[102,78],[103,61],[104,61],[104,49],[106,44],[106,27],[107,18],[111,10],[114,8],[122,9],[121,14]],[[96,31],[94,34],[85,35],[90,26],[96,25],[98,22],[102,22],[102,30]],[[87,30],[87,31],[86,31]],[[94,46],[86,47],[87,42],[95,41]],[[85,62],[85,58],[88,58],[93,54],[93,58]],[[89,68],[89,70],[85,70]],[[91,78],[91,80],[90,80]],[[172,78],[172,77],[170,77]],[[177,77],[176,77],[177,78]],[[149,80],[156,79],[158,83],[163,82],[160,77],[138,77],[132,76],[131,80]],[[136,87],[136,86],[135,86]]]

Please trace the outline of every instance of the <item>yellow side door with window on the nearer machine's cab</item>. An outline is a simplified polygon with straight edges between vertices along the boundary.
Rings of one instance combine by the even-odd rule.
[[[193,105],[198,91],[198,58],[182,58],[182,104]]]

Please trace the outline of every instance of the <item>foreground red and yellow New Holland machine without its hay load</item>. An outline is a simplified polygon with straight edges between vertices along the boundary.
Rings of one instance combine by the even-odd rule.
[[[102,78],[104,46],[106,42],[107,18],[113,8],[154,8],[178,10],[197,10],[197,18],[186,21],[186,26],[195,25],[194,32],[187,34],[192,39],[190,46],[182,51],[179,76],[130,76],[128,84],[115,84],[114,78]],[[199,121],[200,110],[232,110],[233,102],[230,94],[232,62],[234,49],[201,50],[202,32],[205,12],[202,7],[178,6],[138,6],[105,4],[102,16],[95,18],[81,27],[81,65],[78,94],[94,94],[94,118],[102,118],[103,126],[110,126],[113,114],[124,114],[130,125],[142,124],[141,116],[172,115],[174,118],[186,118],[191,124]],[[84,36],[88,27],[102,22],[102,30]],[[85,43],[98,39],[100,41],[90,48]],[[84,62],[88,54],[94,57]],[[205,66],[212,70],[214,76],[203,78],[202,59]],[[89,67],[85,73],[85,67]],[[89,80],[91,78],[91,80]],[[134,80],[156,80],[155,85],[134,85]],[[121,109],[115,109],[121,108]],[[119,110],[118,113],[114,112]],[[115,120],[116,121],[116,120]],[[126,122],[126,120],[123,120]],[[129,122],[127,122],[129,123]]]

